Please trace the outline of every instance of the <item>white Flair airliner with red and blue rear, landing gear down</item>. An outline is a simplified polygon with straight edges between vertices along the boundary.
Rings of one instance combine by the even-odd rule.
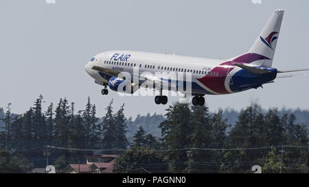
[[[117,50],[93,56],[87,62],[85,71],[95,79],[96,84],[104,86],[102,95],[108,95],[107,86],[117,92],[129,90],[130,94],[133,94],[141,87],[152,88],[153,85],[154,90],[158,88],[160,91],[160,94],[155,96],[157,104],[168,103],[168,97],[162,95],[162,90],[174,89],[192,96],[193,105],[204,105],[205,95],[227,95],[252,88],[263,88],[263,84],[273,83],[274,79],[295,76],[285,73],[309,70],[303,68],[279,71],[272,67],[283,16],[284,10],[275,10],[251,49],[227,60]],[[191,79],[183,78],[185,81],[180,82],[153,75],[158,72],[185,74],[185,77]],[[130,77],[119,76],[121,73]],[[138,81],[133,82],[134,78]],[[147,84],[143,84],[145,82]],[[119,88],[123,83],[128,89],[126,86]],[[191,89],[185,89],[190,86]]]

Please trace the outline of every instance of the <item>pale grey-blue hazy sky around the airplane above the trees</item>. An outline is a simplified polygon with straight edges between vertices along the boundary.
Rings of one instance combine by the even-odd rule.
[[[275,9],[286,10],[273,66],[308,68],[309,1],[0,1],[0,107],[12,103],[22,113],[42,94],[46,106],[67,97],[84,109],[87,97],[98,116],[111,99],[126,116],[165,113],[154,97],[119,97],[84,71],[102,51],[128,49],[227,59],[245,53]],[[309,73],[308,73],[309,74]],[[211,111],[240,110],[258,101],[263,108],[309,109],[309,75],[278,79],[264,89],[233,95],[206,96]],[[168,104],[177,101],[170,97]]]

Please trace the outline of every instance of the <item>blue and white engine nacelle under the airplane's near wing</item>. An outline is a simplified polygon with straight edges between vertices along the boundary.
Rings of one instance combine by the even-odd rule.
[[[127,86],[130,86],[130,89],[126,89]],[[108,86],[111,90],[116,92],[124,92],[133,94],[136,90],[138,90],[138,86],[135,86],[134,83],[129,83],[126,79],[120,79],[118,77],[111,77],[108,81]]]

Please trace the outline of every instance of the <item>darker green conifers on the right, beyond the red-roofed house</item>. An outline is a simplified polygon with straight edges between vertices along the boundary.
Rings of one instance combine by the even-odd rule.
[[[170,106],[159,125],[161,141],[149,145],[140,127],[133,147],[116,159],[114,172],[253,173],[252,166],[259,165],[263,173],[309,173],[308,129],[296,124],[293,114],[280,116],[276,109],[264,114],[252,104],[227,131],[230,124],[222,113],[210,114],[205,106]]]

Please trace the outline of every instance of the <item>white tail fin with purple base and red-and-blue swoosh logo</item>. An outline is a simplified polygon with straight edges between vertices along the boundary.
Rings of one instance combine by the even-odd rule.
[[[255,65],[271,67],[283,16],[284,10],[275,10],[248,53],[233,58],[233,62],[252,62]]]

